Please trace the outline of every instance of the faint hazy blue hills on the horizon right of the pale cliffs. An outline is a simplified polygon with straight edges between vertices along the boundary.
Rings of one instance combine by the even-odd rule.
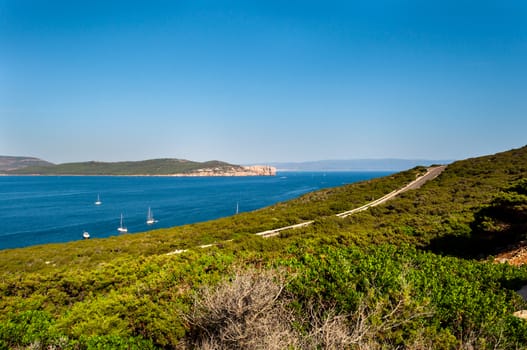
[[[348,159],[348,160],[318,160],[309,162],[270,163],[282,171],[365,171],[411,169],[415,166],[432,164],[449,164],[452,160],[429,159]]]

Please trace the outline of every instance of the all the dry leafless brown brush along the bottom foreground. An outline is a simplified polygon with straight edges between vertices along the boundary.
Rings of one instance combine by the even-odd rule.
[[[282,271],[239,270],[233,278],[196,295],[185,315],[191,349],[383,349],[384,337],[415,318],[430,317],[427,306],[416,306],[401,293],[395,302],[374,302],[365,296],[353,314],[310,303],[299,313],[291,307]],[[432,349],[417,334],[411,349]]]

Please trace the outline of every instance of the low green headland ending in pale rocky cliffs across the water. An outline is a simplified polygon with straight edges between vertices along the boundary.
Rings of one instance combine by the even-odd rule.
[[[27,166],[4,171],[10,175],[180,175],[246,176],[274,175],[268,166],[243,167],[217,160],[193,162],[185,159],[150,159],[130,162],[80,162]]]

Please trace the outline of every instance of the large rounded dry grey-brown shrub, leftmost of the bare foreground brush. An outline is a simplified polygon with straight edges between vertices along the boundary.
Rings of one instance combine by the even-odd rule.
[[[192,327],[190,348],[296,348],[298,334],[284,293],[283,274],[239,271],[231,281],[205,288],[186,316]]]

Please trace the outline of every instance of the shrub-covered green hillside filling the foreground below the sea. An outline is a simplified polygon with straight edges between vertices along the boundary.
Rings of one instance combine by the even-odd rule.
[[[229,218],[0,251],[0,348],[524,349],[527,147]],[[314,220],[274,238],[254,233]],[[200,248],[200,245],[209,245]],[[178,253],[174,253],[178,251]]]

